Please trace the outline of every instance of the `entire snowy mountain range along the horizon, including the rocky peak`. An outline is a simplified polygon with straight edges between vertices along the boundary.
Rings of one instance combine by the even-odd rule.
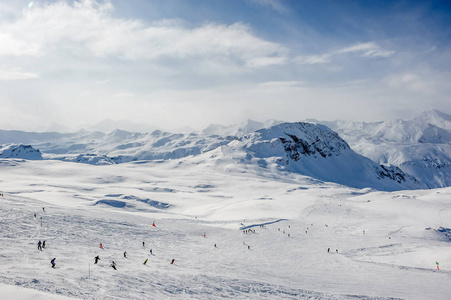
[[[202,132],[186,134],[119,129],[110,133],[0,130],[0,144],[4,145],[0,158],[105,165],[203,154],[210,157],[220,151],[214,159],[224,159],[226,153],[238,163],[277,167],[352,187],[395,190],[451,186],[451,116],[436,110],[406,121],[248,120],[236,126],[210,125]]]

